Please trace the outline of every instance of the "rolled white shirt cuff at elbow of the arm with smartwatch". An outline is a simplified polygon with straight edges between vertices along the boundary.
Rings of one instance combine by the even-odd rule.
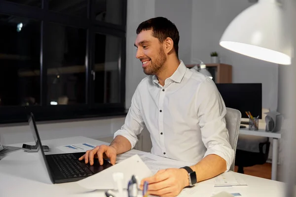
[[[229,171],[232,162],[233,162],[233,158],[234,158],[234,151],[231,148],[222,146],[222,145],[214,145],[213,147],[211,147],[210,149],[208,149],[205,153],[205,156],[208,155],[218,155],[220,156],[222,159],[224,159],[226,161],[226,170],[225,172]]]

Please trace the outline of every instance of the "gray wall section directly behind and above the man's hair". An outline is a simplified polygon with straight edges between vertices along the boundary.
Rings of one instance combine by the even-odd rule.
[[[156,0],[155,17],[162,16],[172,21],[180,34],[179,59],[191,64],[191,12],[192,0]]]

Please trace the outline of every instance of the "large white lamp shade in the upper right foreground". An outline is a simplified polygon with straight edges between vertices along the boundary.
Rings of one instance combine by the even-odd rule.
[[[220,45],[252,58],[290,65],[292,42],[289,32],[282,7],[276,0],[259,0],[229,24]]]

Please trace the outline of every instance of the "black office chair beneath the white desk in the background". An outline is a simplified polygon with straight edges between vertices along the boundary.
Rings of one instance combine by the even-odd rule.
[[[235,165],[238,166],[238,173],[244,173],[244,167],[258,164],[265,164],[268,159],[270,142],[268,137],[265,142],[260,142],[258,146],[259,152],[251,152],[245,150],[236,150]],[[265,149],[265,150],[264,150]]]

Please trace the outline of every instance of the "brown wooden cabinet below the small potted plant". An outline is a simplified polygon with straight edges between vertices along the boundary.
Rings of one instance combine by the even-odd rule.
[[[215,83],[232,83],[232,66],[226,64],[205,64]],[[191,68],[195,65],[186,65]]]

